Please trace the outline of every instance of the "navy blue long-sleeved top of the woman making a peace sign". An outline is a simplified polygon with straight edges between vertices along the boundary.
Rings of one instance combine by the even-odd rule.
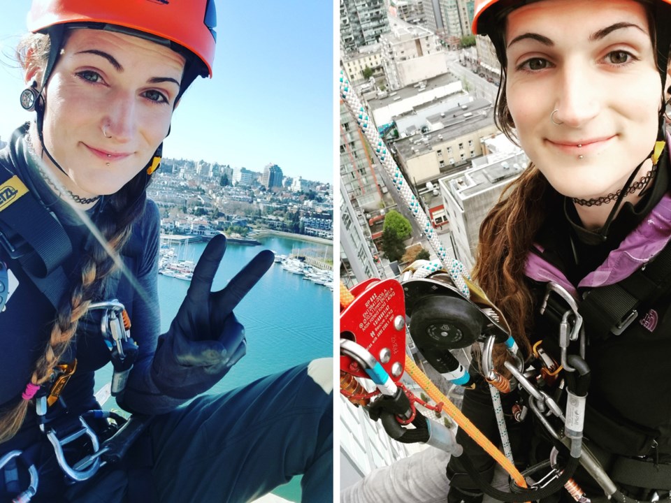
[[[26,126],[23,126],[15,131],[8,147],[0,151],[0,163],[21,178],[31,193],[56,215],[68,233],[74,251],[64,268],[72,281],[78,275],[80,250],[85,246],[89,231],[73,210],[47,186],[38,171],[37,162],[26,139]],[[87,211],[92,221],[99,217],[104,204],[103,197]],[[179,365],[171,354],[172,344],[161,344],[169,335],[159,336],[158,251],[159,212],[153,201],[147,201],[143,214],[134,224],[133,237],[122,253],[124,263],[134,272],[146,296],[134,293],[129,282],[122,278],[112,282],[113,291],[106,291],[100,299],[96,299],[117,298],[131,316],[131,337],[138,344],[138,358],[120,405],[143,414],[163,414],[192,398],[184,396],[184,388],[175,389],[170,383],[180,382],[185,387],[198,384],[197,388],[204,389],[222,377],[199,372],[199,369],[194,372],[193,367]],[[55,309],[1,247],[0,260],[8,265],[18,281],[5,309],[0,312],[0,407],[7,407],[20,399],[30,379],[36,358],[43,352],[48,340]],[[100,312],[94,311],[80,321],[74,355],[78,367],[62,393],[66,407],[54,406],[49,414],[68,414],[76,421],[83,411],[99,408],[94,399],[94,388],[100,388],[104,383],[94,383],[94,373],[110,361],[110,350],[101,337],[99,319]],[[19,434],[0,444],[0,456],[11,449],[24,449],[41,441],[43,435],[36,427],[34,407],[29,407]]]

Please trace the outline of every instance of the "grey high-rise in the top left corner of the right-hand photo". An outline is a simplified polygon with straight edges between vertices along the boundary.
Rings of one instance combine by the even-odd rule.
[[[383,0],[340,0],[340,48],[354,52],[389,32]]]

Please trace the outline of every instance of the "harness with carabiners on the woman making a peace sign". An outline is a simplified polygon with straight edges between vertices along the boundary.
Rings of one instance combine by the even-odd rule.
[[[4,154],[6,152],[0,154],[0,246],[10,261],[16,263],[51,305],[58,309],[69,285],[63,263],[72,253],[71,241],[55,215],[17,175],[6,168],[12,163],[10,159],[3,159]],[[129,262],[136,265],[134,258],[130,258]],[[120,275],[113,277],[112,282],[119,288],[129,286],[123,279],[120,280]],[[8,265],[0,261],[0,310],[8,299],[8,289]],[[138,347],[130,335],[129,316],[118,300],[93,302],[89,311],[101,311],[101,333],[110,349],[114,369],[111,393],[119,399],[138,354]],[[74,353],[72,345],[70,354]],[[133,416],[127,421],[118,414],[101,410],[89,411],[75,421],[68,414],[52,417],[54,415],[48,414],[48,410],[59,401],[76,366],[75,359],[57,365],[51,385],[41,386],[34,399],[38,426],[51,444],[57,463],[70,483],[91,479],[101,466],[119,462],[150,421],[148,416]],[[108,425],[106,431],[92,428],[94,423],[100,425],[101,420]],[[116,432],[115,435],[111,435],[113,432]],[[66,455],[68,446],[85,448],[88,455],[84,451],[85,457],[73,462]],[[14,502],[29,502],[37,493],[40,472],[38,452],[39,449],[34,448],[14,450],[0,458],[0,473],[5,474],[6,490],[19,493]],[[16,473],[20,466],[28,473],[29,487],[24,490],[18,486],[18,476],[8,478],[7,475]]]

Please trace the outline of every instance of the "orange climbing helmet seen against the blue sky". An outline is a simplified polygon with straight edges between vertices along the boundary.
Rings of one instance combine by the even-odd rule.
[[[214,0],[33,0],[27,22],[34,33],[82,23],[124,27],[176,43],[200,60],[199,75],[212,76]]]

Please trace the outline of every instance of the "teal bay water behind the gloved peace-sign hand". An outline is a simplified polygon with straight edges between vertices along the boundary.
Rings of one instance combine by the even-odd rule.
[[[301,249],[312,256],[333,256],[332,247],[314,242],[278,236],[260,238],[259,241],[260,247],[229,243],[212,290],[223,288],[243,265],[264,248],[282,255]],[[198,260],[203,249],[205,243],[189,244],[186,253],[184,249],[175,247],[180,256],[193,261]],[[159,275],[162,332],[170,326],[188,288],[187,281]],[[222,393],[287,367],[333,355],[333,292],[326,286],[303,279],[302,275],[282,269],[279,263],[271,266],[236,307],[235,314],[245,326],[247,355],[210,393]],[[299,502],[300,477],[294,477],[273,492],[292,502]]]

